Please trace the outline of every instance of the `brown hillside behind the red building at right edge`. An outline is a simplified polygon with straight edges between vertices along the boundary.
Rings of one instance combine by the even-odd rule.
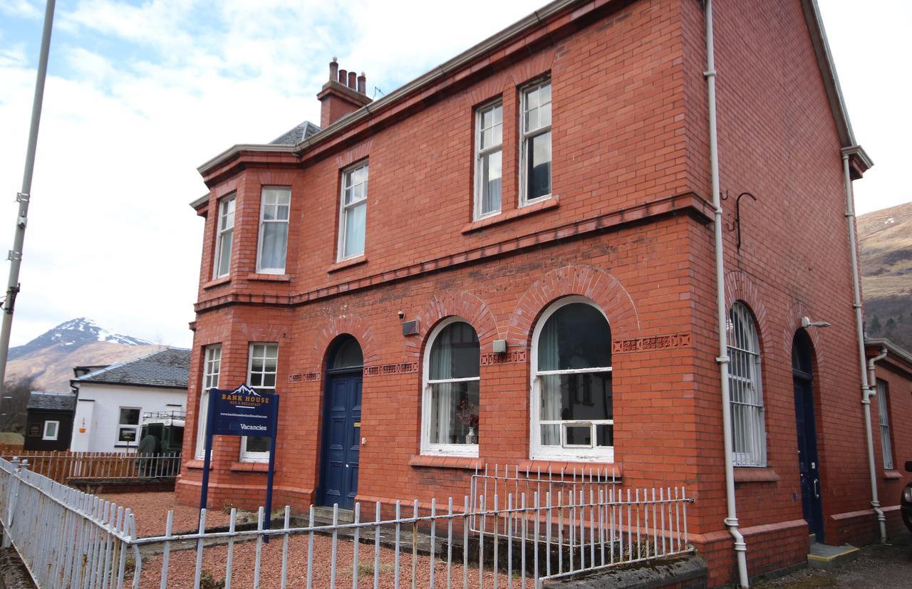
[[[912,350],[912,202],[858,217],[865,332]]]

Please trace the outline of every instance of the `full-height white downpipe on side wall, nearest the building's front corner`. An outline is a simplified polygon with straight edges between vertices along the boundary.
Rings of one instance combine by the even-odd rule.
[[[729,344],[725,332],[728,317],[725,307],[725,266],[722,251],[722,206],[719,190],[719,136],[716,130],[716,70],[712,37],[712,0],[706,0],[706,78],[707,98],[710,115],[710,175],[712,180],[712,206],[715,209],[713,233],[716,243],[716,306],[719,323],[719,378],[722,393],[722,439],[725,453],[725,499],[728,515],[725,525],[734,539],[735,555],[738,559],[738,581],[741,587],[748,587],[747,544],[738,530],[738,513],[735,506],[734,465],[731,462],[731,395],[729,391]]]

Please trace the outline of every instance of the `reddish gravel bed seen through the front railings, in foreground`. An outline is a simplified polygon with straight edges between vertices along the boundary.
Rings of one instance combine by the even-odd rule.
[[[302,587],[306,583],[307,575],[307,536],[297,536],[288,542],[288,586]],[[254,586],[255,542],[236,543],[233,555],[232,586],[247,589]],[[353,542],[339,540],[337,552],[338,587],[350,587],[353,570]],[[212,584],[203,584],[206,589],[221,586],[217,583],[223,581],[225,576],[225,561],[228,547],[225,545],[211,546],[203,550],[202,570],[208,573]],[[314,537],[314,587],[330,586],[330,555],[332,553],[332,540],[326,536]],[[470,554],[471,557],[471,554]],[[477,555],[476,555],[477,558]],[[453,560],[461,562],[461,553],[453,554]],[[168,587],[181,589],[193,586],[195,572],[196,551],[183,550],[171,553],[168,566]],[[373,587],[374,578],[374,547],[372,544],[358,545],[358,587]],[[395,551],[389,548],[380,548],[380,584],[381,587],[394,586]],[[446,566],[436,559],[435,587],[446,586]],[[430,557],[419,556],[415,575],[416,586],[430,587]],[[263,589],[277,589],[281,586],[282,572],[282,541],[278,538],[263,546],[261,563],[260,587]],[[462,567],[453,565],[451,570],[454,586],[462,586]],[[142,565],[140,587],[143,589],[157,588],[161,583],[161,555],[155,556]],[[411,546],[403,545],[399,553],[399,584],[402,587],[411,586]],[[518,581],[518,579],[517,579]],[[505,587],[507,577],[500,574],[500,586]],[[527,586],[531,580],[527,577]],[[493,573],[484,573],[484,585],[493,586]],[[469,567],[469,586],[478,587],[478,569]],[[515,584],[518,586],[518,583]]]

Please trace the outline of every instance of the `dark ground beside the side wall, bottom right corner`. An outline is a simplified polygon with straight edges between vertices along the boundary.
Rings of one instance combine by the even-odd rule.
[[[855,561],[836,570],[803,569],[778,579],[754,584],[755,589],[900,589],[912,587],[912,540],[908,535],[892,544],[862,548]]]

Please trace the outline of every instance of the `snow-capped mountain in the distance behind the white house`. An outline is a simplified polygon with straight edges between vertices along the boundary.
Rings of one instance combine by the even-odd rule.
[[[73,367],[115,364],[163,347],[80,317],[57,325],[25,346],[10,348],[6,382],[31,377],[34,390],[67,392]]]

